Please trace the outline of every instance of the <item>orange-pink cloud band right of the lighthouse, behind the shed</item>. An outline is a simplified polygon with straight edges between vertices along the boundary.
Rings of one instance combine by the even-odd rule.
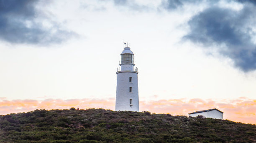
[[[223,118],[236,122],[256,124],[256,100],[247,98],[225,99],[213,101],[211,99],[169,99],[159,101],[141,101],[140,109],[155,113],[170,113],[185,115],[195,111],[218,108],[223,111]]]

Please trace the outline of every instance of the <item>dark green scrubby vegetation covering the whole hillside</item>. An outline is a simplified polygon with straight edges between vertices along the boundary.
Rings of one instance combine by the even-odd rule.
[[[256,125],[150,112],[35,110],[0,116],[1,143],[256,143]]]

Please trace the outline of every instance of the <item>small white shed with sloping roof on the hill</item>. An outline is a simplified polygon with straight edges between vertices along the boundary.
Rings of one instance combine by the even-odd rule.
[[[216,108],[189,113],[189,116],[191,117],[197,117],[198,115],[205,116],[205,118],[216,118],[223,120],[223,112]]]

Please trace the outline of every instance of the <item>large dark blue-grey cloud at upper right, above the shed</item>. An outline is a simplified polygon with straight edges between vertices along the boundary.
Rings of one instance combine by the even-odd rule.
[[[244,72],[256,69],[256,44],[252,28],[256,24],[256,7],[243,5],[242,10],[210,7],[192,17],[190,32],[184,36],[192,42],[220,47],[220,54],[233,60]],[[224,46],[223,46],[224,45]]]

